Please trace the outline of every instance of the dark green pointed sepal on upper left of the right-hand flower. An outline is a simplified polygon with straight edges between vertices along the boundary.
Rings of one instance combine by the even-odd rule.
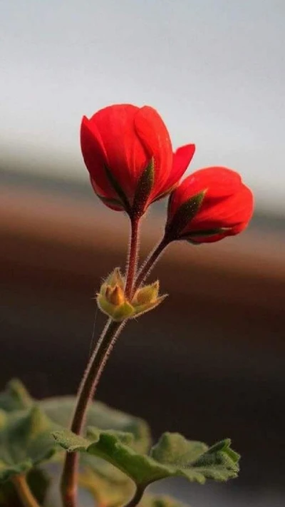
[[[207,190],[202,190],[202,192],[199,192],[196,195],[192,195],[190,199],[185,201],[185,203],[183,203],[180,208],[178,208],[177,212],[170,220],[170,223],[167,222],[166,224],[165,237],[167,237],[167,240],[173,241],[180,239],[182,231],[199,211],[206,191]],[[168,209],[170,209],[172,195],[170,195]]]

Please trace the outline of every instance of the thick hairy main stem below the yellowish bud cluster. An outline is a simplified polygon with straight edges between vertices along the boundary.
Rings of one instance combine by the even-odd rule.
[[[71,423],[71,431],[77,435],[81,434],[86,420],[88,404],[95,394],[100,376],[123,326],[124,322],[115,322],[109,319],[90,357],[78,391],[76,409]],[[78,460],[78,454],[66,453],[61,477],[61,494],[64,507],[76,507],[77,504]]]

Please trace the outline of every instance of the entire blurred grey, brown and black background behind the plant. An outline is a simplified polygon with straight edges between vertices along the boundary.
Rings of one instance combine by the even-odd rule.
[[[0,383],[76,391],[93,296],[123,266],[128,220],[99,203],[78,143],[83,114],[150,104],[190,170],[225,165],[252,187],[248,230],[173,245],[153,274],[164,304],[130,322],[98,397],[242,454],[227,485],[157,485],[193,507],[284,505],[285,61],[283,0],[0,0]],[[148,213],[144,257],[165,204]],[[95,322],[95,337],[103,327]]]

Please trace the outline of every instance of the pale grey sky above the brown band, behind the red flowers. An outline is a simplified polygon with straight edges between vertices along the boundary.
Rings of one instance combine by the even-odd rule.
[[[149,104],[285,214],[285,0],[0,0],[0,39],[4,154],[82,180],[83,114]]]

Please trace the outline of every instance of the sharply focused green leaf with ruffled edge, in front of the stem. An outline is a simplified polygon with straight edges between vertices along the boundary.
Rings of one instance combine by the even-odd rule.
[[[55,431],[53,436],[63,449],[99,456],[133,479],[138,486],[147,486],[162,478],[181,476],[204,483],[207,478],[227,481],[237,476],[239,455],[224,440],[208,448],[180,434],[165,433],[152,447],[150,455],[139,454],[129,445],[130,435],[90,428],[88,439],[71,431]]]

